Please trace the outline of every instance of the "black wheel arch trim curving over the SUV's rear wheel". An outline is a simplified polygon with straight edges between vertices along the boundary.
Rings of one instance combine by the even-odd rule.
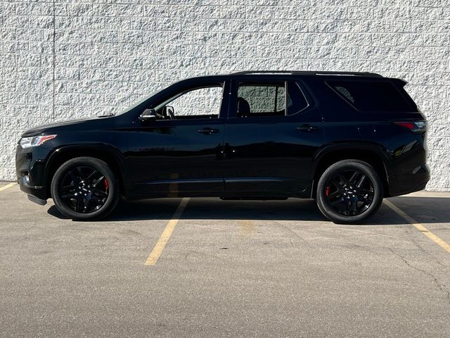
[[[356,159],[369,163],[375,168],[383,182],[384,197],[389,197],[389,183],[387,180],[386,157],[383,147],[373,144],[335,144],[318,152],[314,158],[312,180],[314,186],[311,196],[316,195],[317,183],[323,172],[338,161]]]

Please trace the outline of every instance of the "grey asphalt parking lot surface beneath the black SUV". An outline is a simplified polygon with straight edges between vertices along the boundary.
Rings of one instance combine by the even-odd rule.
[[[450,194],[389,201],[450,243]],[[0,337],[450,337],[450,251],[387,204],[180,202],[82,223],[0,190]]]

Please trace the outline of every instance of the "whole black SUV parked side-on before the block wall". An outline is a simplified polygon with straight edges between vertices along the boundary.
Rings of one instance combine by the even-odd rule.
[[[176,82],[118,115],[27,130],[20,189],[64,215],[125,199],[316,199],[358,223],[425,187],[425,117],[404,80],[375,73],[241,72]]]

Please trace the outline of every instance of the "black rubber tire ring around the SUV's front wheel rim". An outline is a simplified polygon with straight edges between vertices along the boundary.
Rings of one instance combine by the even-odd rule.
[[[104,175],[106,180],[108,180],[108,198],[101,208],[92,213],[77,213],[65,204],[63,199],[60,198],[59,187],[61,180],[63,180],[69,170],[77,166],[89,166],[94,168]],[[71,160],[63,163],[63,165],[56,170],[55,175],[53,175],[53,179],[51,180],[51,196],[56,208],[58,208],[58,211],[60,211],[63,215],[68,216],[73,220],[97,220],[104,218],[111,211],[113,211],[117,205],[117,201],[119,200],[119,183],[115,178],[113,170],[111,170],[108,164],[104,161],[91,157],[72,158]]]

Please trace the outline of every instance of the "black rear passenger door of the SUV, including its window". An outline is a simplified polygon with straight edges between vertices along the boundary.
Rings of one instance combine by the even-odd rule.
[[[225,132],[228,196],[296,196],[323,144],[319,109],[300,82],[234,81]]]

